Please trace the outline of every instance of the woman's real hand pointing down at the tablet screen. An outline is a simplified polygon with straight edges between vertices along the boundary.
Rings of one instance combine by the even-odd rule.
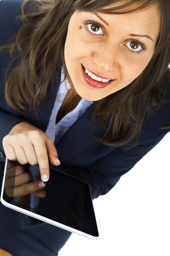
[[[38,163],[43,181],[49,179],[48,157],[52,165],[60,164],[59,160],[57,161],[58,153],[52,140],[42,130],[28,122],[14,125],[3,138],[3,148],[8,160],[17,160],[22,165]]]

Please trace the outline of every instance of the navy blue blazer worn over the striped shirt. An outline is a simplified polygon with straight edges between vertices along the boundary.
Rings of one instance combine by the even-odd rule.
[[[23,0],[0,1],[0,46],[6,44],[22,26],[21,21],[15,19],[17,15],[21,14],[22,3]],[[0,161],[6,160],[2,144],[3,137],[17,123],[30,122],[42,131],[46,131],[58,90],[57,86],[48,88],[47,100],[43,102],[38,111],[38,119],[35,113],[28,110],[23,113],[14,111],[6,104],[4,97],[4,71],[2,68],[9,58],[9,53],[0,54]],[[55,74],[58,81],[60,81],[60,71],[57,68]],[[167,81],[166,85],[164,99],[169,100],[170,82]],[[94,104],[96,102],[90,108]],[[92,197],[97,198],[99,195],[109,192],[120,177],[130,171],[170,131],[170,129],[159,130],[161,126],[170,124],[170,102],[162,104],[150,118],[144,120],[139,143],[130,150],[97,143],[92,138],[92,134],[104,134],[105,129],[98,124],[96,119],[93,124],[88,122],[88,110],[89,108],[57,143],[56,149],[61,162],[57,169],[88,182]],[[133,141],[130,141],[124,146],[130,146],[132,143]]]

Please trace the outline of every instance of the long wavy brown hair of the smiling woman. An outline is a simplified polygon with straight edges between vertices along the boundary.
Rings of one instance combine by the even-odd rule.
[[[64,47],[68,23],[74,11],[126,14],[158,4],[161,30],[150,62],[127,87],[97,101],[91,109],[89,120],[92,123],[96,117],[105,128],[103,136],[93,134],[96,141],[121,146],[137,139],[129,149],[136,146],[146,115],[153,112],[153,107],[159,108],[160,104],[166,103],[166,79],[170,81],[170,0],[129,0],[117,7],[102,9],[117,2],[122,3],[118,0],[24,1],[21,6],[22,15],[17,16],[23,21],[23,26],[14,36],[15,41],[0,48],[1,52],[11,52],[11,55],[18,53],[16,58],[20,59],[8,79],[6,72],[5,98],[8,105],[18,112],[26,108],[36,111],[45,100],[48,87],[56,84],[59,86],[59,83],[51,84],[56,63],[60,68],[64,65],[65,78],[68,76],[70,79],[65,65]],[[128,7],[131,10],[127,11]],[[167,128],[170,126],[159,129]]]

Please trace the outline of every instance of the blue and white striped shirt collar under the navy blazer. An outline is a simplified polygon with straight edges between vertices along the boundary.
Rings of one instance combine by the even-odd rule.
[[[64,67],[61,70],[61,81],[65,78]],[[65,115],[57,124],[56,117],[59,111],[59,108],[62,105],[62,102],[71,88],[71,85],[66,78],[65,81],[59,84],[59,90],[56,95],[56,100],[54,103],[54,107],[51,113],[51,117],[48,123],[48,127],[45,131],[45,134],[53,141],[54,145],[59,141],[59,139],[68,131],[68,129],[77,121],[77,119],[82,116],[85,110],[93,104],[93,101],[88,101],[86,99],[81,99],[79,104],[74,110]]]

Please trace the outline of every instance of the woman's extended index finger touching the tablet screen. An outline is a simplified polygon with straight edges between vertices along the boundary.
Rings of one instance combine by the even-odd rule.
[[[40,138],[34,142],[35,153],[37,156],[37,161],[40,167],[40,174],[42,181],[49,180],[49,163],[48,163],[48,153],[45,145],[45,141]]]

